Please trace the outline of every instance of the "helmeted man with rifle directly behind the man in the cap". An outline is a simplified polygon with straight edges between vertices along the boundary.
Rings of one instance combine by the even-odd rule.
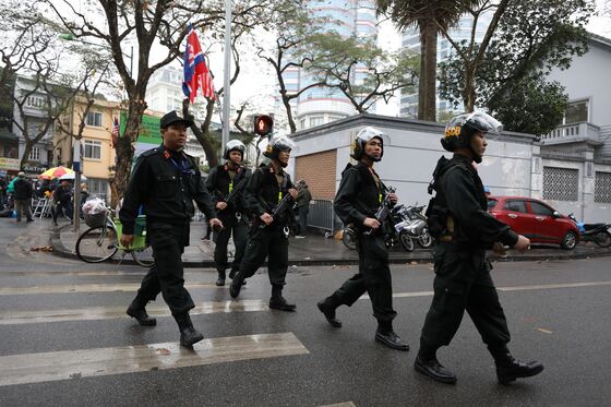
[[[225,146],[225,154],[223,155],[227,163],[214,168],[206,179],[206,188],[218,211],[218,218],[225,226],[215,234],[214,263],[218,272],[217,286],[225,285],[225,271],[229,267],[227,264],[227,244],[229,243],[231,232],[233,234],[236,253],[231,271],[229,272],[229,278],[233,278],[238,270],[240,270],[240,263],[247,246],[248,223],[241,192],[236,192],[236,197],[231,200],[231,203],[225,202],[227,196],[233,192],[233,189],[239,188],[243,190],[245,187],[244,182],[248,182],[250,177],[250,170],[241,165],[244,151],[245,146],[239,140],[229,141]]]

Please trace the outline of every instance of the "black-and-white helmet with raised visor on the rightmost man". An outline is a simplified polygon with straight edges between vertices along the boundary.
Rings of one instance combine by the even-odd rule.
[[[470,148],[471,135],[478,131],[500,134],[503,124],[483,111],[459,115],[447,122],[441,145],[448,152],[456,148]]]

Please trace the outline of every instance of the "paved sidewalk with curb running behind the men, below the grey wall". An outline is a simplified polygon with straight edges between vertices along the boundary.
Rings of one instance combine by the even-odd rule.
[[[70,224],[60,224],[58,228],[51,226],[51,246],[53,254],[77,259],[75,243],[79,235],[87,229],[86,225],[81,226],[77,234]],[[204,236],[206,225],[203,222],[191,223],[191,246],[184,249],[182,262],[184,267],[211,267],[214,268],[214,242],[201,240]],[[419,249],[416,246],[412,252],[393,249],[390,253],[390,261],[394,264],[405,263],[432,263],[433,258],[430,250]],[[232,255],[233,248],[230,241],[229,254]],[[321,232],[313,230],[304,239],[289,238],[289,264],[290,265],[340,265],[358,264],[358,254],[354,250],[348,250],[340,240],[325,238]],[[514,250],[507,251],[507,256],[500,258],[490,252],[492,261],[547,261],[547,260],[568,260],[586,259],[590,256],[611,255],[611,248],[602,249],[591,242],[579,243],[574,250],[562,250],[558,246],[534,246],[526,253]],[[125,256],[123,263],[131,264],[133,260]]]

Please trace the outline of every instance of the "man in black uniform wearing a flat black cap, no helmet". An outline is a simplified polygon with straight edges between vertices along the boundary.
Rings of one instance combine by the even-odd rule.
[[[176,111],[161,118],[164,144],[139,157],[119,212],[123,227],[121,244],[129,247],[134,239],[139,208],[144,205],[146,238],[155,258],[155,265],[143,278],[127,313],[141,325],[155,325],[156,320],[148,316],[145,307],[161,292],[178,323],[180,344],[187,347],[203,339],[189,318],[189,310],[195,306],[184,288],[181,260],[184,247],[189,246],[193,201],[211,219],[212,227],[223,227],[201,180],[200,169],[193,157],[182,151],[187,143],[187,129],[191,124]]]

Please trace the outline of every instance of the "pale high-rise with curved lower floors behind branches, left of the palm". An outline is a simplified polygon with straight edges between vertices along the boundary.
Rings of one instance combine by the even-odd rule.
[[[314,16],[328,17],[328,29],[339,35],[357,36],[376,39],[378,19],[375,15],[375,1],[373,0],[312,0],[309,10]],[[367,69],[357,68],[352,81],[362,81],[368,74]],[[289,68],[284,74],[289,93],[312,83],[313,77],[299,68]],[[284,109],[279,99],[278,109]],[[291,100],[291,107],[298,130],[312,128],[344,119],[356,113],[356,109],[348,98],[339,91],[327,87],[312,87],[303,92],[298,98]]]

